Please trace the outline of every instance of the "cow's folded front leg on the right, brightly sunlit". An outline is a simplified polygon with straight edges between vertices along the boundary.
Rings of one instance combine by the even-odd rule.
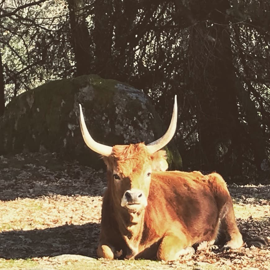
[[[175,234],[167,234],[162,239],[157,251],[158,260],[175,261],[180,255],[190,253],[191,243],[187,237],[182,234],[180,237]]]

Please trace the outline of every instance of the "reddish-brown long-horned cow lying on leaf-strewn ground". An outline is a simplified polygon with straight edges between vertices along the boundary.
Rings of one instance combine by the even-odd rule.
[[[83,139],[107,165],[98,257],[176,260],[195,243],[213,244],[221,227],[229,237],[226,247],[243,244],[232,198],[218,173],[164,171],[168,165],[160,149],[172,139],[176,121],[175,97],[163,137],[149,145],[110,147],[92,139],[80,106]]]

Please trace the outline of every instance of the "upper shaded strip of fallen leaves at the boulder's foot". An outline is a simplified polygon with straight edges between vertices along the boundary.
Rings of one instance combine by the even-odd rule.
[[[0,200],[50,195],[101,196],[104,170],[67,162],[55,153],[0,156]]]

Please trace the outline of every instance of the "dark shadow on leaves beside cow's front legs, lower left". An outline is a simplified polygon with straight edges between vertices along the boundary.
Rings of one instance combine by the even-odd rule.
[[[99,223],[1,232],[0,258],[27,259],[61,254],[80,254],[95,258],[99,232]]]

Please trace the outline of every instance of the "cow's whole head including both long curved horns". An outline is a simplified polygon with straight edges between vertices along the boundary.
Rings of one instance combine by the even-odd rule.
[[[128,212],[141,211],[147,205],[151,172],[168,168],[166,152],[160,149],[172,139],[176,130],[176,96],[167,132],[148,145],[137,143],[111,147],[94,141],[85,125],[82,107],[79,106],[83,139],[90,149],[103,156],[108,169],[108,189],[112,192],[115,204]]]

